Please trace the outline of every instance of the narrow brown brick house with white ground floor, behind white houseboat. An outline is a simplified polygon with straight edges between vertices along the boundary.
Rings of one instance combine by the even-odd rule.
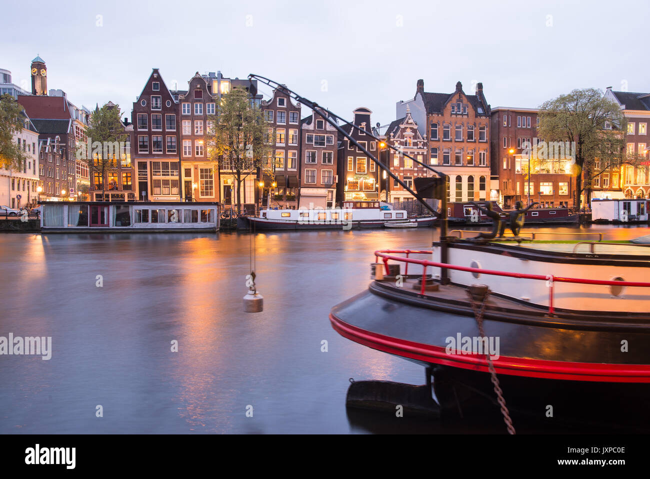
[[[335,206],[338,169],[338,130],[320,111],[300,122],[300,206]]]

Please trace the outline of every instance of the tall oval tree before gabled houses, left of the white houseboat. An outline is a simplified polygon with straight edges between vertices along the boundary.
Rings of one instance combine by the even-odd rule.
[[[207,135],[207,156],[222,170],[232,171],[237,182],[237,213],[241,212],[242,181],[265,165],[270,148],[262,111],[244,89],[233,88],[222,97],[213,128]]]

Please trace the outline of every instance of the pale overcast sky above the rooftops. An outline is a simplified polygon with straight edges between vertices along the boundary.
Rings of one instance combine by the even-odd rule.
[[[110,100],[129,117],[151,68],[171,89],[196,72],[260,74],[348,120],[368,107],[382,125],[420,78],[425,91],[461,81],[467,94],[480,81],[492,107],[535,108],[588,87],[650,91],[647,0],[29,4],[3,5],[0,68],[31,89],[40,55],[48,89],[89,108]]]

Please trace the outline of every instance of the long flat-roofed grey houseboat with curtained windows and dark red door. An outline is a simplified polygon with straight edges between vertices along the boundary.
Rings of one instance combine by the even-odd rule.
[[[42,202],[41,231],[193,232],[219,230],[218,202]]]

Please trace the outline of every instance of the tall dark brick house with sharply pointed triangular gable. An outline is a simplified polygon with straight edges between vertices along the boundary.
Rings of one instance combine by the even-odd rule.
[[[178,113],[172,93],[158,68],[153,68],[131,112],[138,200],[181,199]]]

